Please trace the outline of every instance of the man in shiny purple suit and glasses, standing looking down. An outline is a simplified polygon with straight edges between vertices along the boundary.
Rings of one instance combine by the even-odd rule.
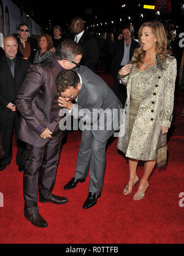
[[[43,63],[31,64],[17,95],[16,105],[22,115],[19,138],[27,143],[23,193],[25,217],[36,227],[48,223],[39,214],[40,203],[67,203],[67,198],[52,194],[58,168],[61,139],[59,130],[58,91],[56,76],[63,69],[72,69],[82,58],[82,49],[74,41],[66,40],[55,56]],[[39,187],[39,189],[38,189]]]

